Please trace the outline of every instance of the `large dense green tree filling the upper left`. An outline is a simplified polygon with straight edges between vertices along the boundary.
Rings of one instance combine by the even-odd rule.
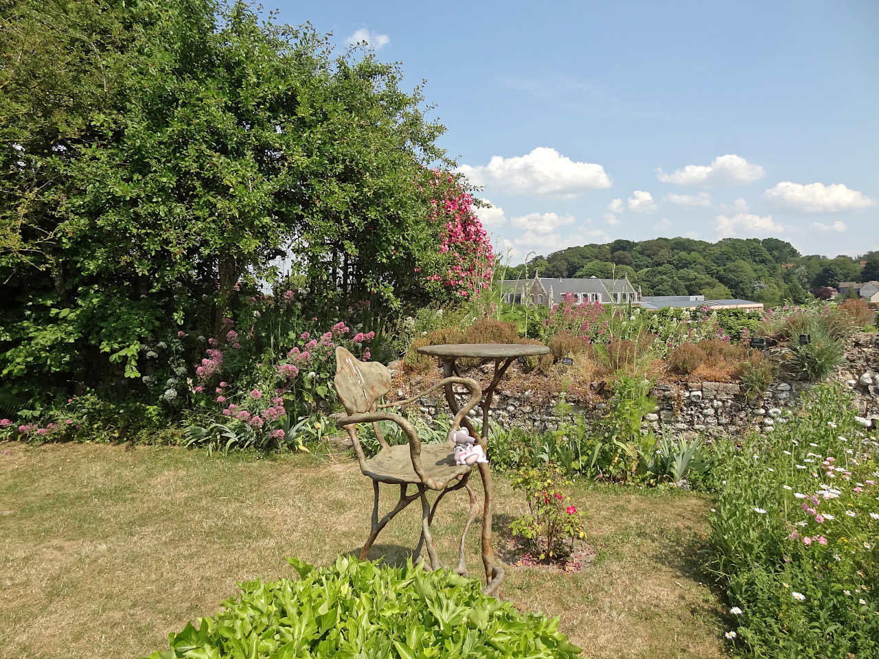
[[[17,0],[3,28],[7,381],[135,376],[144,337],[218,328],[282,255],[337,309],[417,301],[452,264],[443,128],[397,65],[243,3]]]

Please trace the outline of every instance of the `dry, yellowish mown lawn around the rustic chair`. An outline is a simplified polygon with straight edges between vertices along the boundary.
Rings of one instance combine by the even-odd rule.
[[[189,619],[215,612],[255,576],[290,576],[365,540],[372,485],[348,455],[218,458],[180,448],[0,444],[0,656],[141,656]],[[496,532],[523,502],[497,479]],[[389,489],[385,503],[392,505]],[[724,606],[702,580],[710,500],[578,485],[598,558],[573,575],[507,567],[503,597],[561,615],[599,657],[722,657]],[[434,522],[454,564],[466,510]],[[370,557],[399,561],[418,540],[412,505]],[[469,567],[480,568],[479,533]]]

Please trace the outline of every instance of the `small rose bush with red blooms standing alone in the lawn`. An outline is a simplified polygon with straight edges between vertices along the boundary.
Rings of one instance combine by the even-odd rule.
[[[541,561],[570,555],[574,540],[586,537],[583,513],[562,492],[572,484],[555,465],[521,467],[512,478],[512,488],[525,494],[529,512],[514,519],[510,530],[527,539]]]

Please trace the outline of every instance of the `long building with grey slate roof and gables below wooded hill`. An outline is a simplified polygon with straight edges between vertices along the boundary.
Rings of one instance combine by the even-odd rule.
[[[561,304],[565,295],[573,296],[577,303],[599,302],[600,304],[641,305],[641,292],[632,286],[628,278],[599,279],[556,279],[535,277],[534,279],[505,279],[504,299],[516,304],[531,304],[552,307]]]

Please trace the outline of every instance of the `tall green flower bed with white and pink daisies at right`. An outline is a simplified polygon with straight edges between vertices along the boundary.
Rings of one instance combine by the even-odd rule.
[[[879,472],[851,397],[820,385],[719,467],[708,568],[759,657],[879,654]]]

